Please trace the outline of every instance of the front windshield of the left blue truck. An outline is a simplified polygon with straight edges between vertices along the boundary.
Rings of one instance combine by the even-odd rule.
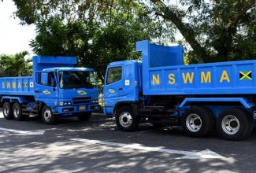
[[[59,73],[59,83],[62,89],[92,88],[97,85],[94,72],[63,71]]]

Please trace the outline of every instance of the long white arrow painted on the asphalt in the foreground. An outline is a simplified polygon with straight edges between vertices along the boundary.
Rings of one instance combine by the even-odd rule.
[[[176,159],[224,159],[224,156],[221,156],[217,153],[212,152],[210,149],[205,149],[200,152],[187,152],[173,149],[162,149],[161,147],[148,147],[140,144],[124,144],[124,143],[115,143],[115,142],[102,142],[98,140],[90,140],[83,138],[70,138],[72,141],[79,142],[87,142],[91,144],[100,144],[100,145],[111,145],[111,146],[119,146],[126,149],[140,149],[146,150],[149,152],[161,152],[161,153],[172,153],[172,154],[180,154],[185,155],[181,157],[177,157]]]

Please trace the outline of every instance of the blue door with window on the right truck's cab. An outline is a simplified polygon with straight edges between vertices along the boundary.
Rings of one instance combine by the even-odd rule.
[[[104,107],[105,115],[113,114],[113,107],[117,100],[121,100],[124,95],[123,66],[112,66],[107,69],[104,85]]]

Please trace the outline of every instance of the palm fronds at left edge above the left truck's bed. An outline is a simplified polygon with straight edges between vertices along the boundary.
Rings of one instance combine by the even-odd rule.
[[[32,75],[32,59],[25,60],[28,51],[16,53],[14,55],[0,55],[0,76],[24,76]]]

